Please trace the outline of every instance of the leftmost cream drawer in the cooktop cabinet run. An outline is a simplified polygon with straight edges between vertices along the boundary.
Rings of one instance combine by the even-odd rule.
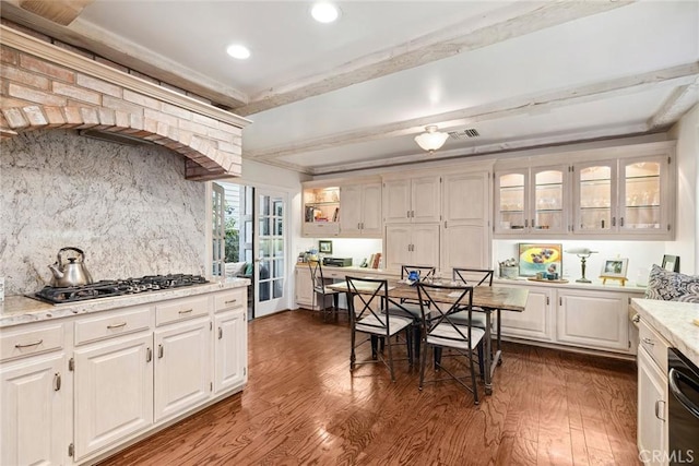
[[[63,325],[3,332],[0,336],[0,360],[22,358],[63,347]]]

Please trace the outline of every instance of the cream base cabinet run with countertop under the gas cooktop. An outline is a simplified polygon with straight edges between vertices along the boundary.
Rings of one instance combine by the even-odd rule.
[[[247,286],[0,307],[0,464],[92,464],[240,392]]]

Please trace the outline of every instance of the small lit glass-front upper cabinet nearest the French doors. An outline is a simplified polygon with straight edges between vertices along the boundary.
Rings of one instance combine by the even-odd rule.
[[[336,236],[340,231],[340,187],[304,188],[304,236]]]

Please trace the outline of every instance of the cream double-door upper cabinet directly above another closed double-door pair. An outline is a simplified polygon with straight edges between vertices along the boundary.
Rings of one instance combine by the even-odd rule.
[[[441,178],[428,175],[384,179],[383,222],[424,224],[441,219]]]

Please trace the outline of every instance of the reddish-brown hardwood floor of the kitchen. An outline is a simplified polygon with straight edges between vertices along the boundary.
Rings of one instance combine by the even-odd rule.
[[[368,347],[367,347],[368,349]],[[396,363],[350,373],[346,315],[249,323],[249,382],[107,465],[640,465],[636,365],[505,344],[491,396],[417,390]],[[483,394],[483,387],[481,387]]]

